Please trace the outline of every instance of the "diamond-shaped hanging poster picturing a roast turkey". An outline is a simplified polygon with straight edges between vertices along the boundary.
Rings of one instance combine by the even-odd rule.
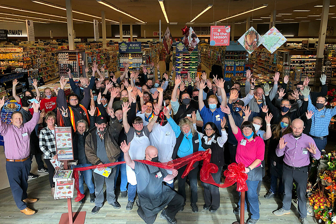
[[[253,27],[251,27],[238,39],[238,42],[247,50],[247,52],[252,53],[262,42],[264,42],[264,39]]]

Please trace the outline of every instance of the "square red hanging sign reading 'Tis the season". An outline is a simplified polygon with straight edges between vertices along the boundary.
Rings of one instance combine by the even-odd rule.
[[[230,26],[210,27],[210,46],[227,46],[230,44]]]

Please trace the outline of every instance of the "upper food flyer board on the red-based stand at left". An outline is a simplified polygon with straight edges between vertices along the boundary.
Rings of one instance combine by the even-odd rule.
[[[71,127],[55,127],[57,160],[74,159]]]

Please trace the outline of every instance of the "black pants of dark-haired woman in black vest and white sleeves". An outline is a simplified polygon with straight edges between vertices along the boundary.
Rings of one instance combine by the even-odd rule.
[[[213,180],[219,184],[220,177],[222,174],[222,167],[218,167],[218,172],[215,174],[211,174]],[[212,184],[207,184],[201,182],[202,186],[204,187],[204,201],[205,204],[211,206],[213,209],[219,208],[220,203],[220,196],[219,196],[219,188]]]

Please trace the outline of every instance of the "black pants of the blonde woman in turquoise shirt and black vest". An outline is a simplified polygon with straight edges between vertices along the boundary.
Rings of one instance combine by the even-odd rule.
[[[177,179],[178,179],[178,193],[183,196],[184,201],[186,200],[185,196],[185,180],[186,177],[182,178],[182,174],[186,168],[186,165],[178,169]],[[190,202],[192,204],[197,202],[197,173],[198,173],[198,166],[189,172],[188,179],[190,182]]]

